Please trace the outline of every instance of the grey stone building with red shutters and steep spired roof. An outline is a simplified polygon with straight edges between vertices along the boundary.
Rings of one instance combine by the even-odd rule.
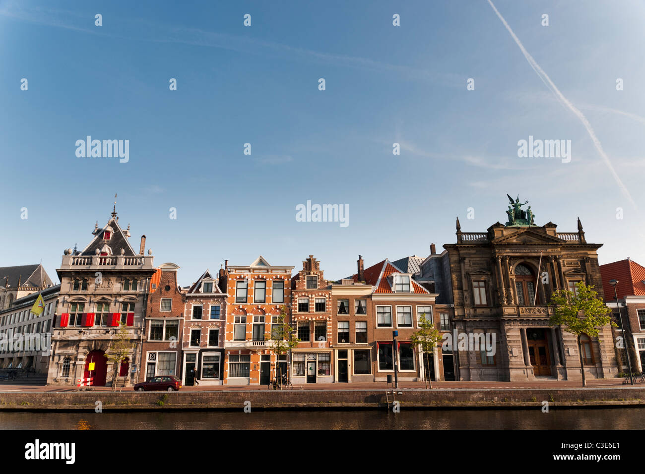
[[[75,385],[91,376],[96,386],[112,384],[114,364],[108,364],[106,353],[123,325],[132,351],[115,379],[118,386],[129,386],[142,370],[138,358],[146,296],[155,273],[152,252],[144,255],[145,235],[135,252],[128,242],[130,226],[121,229],[115,209],[103,228],[95,224],[92,235],[81,252],[65,250],[56,270],[61,280],[59,317],[52,333],[47,383]]]

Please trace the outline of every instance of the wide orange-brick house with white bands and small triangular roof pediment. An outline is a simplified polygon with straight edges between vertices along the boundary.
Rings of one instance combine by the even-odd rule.
[[[226,262],[219,287],[226,295],[224,377],[227,385],[268,384],[276,357],[268,346],[271,324],[284,306],[290,321],[293,266],[270,265],[260,255],[250,265]],[[287,355],[280,357],[288,373]]]

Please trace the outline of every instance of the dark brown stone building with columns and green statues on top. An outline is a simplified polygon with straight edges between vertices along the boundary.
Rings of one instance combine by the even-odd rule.
[[[575,291],[583,281],[603,297],[597,250],[577,232],[531,224],[519,200],[509,206],[510,222],[486,232],[462,232],[446,244],[452,278],[453,331],[495,335],[495,353],[455,344],[457,380],[581,380],[575,335],[549,324],[553,290]],[[526,217],[525,217],[526,216]],[[582,335],[584,370],[590,378],[615,377],[617,360],[610,326],[598,337]]]

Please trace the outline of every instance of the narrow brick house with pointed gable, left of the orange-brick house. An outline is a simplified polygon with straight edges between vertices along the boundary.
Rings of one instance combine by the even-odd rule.
[[[186,293],[182,348],[183,383],[221,385],[226,328],[226,294],[206,270]]]

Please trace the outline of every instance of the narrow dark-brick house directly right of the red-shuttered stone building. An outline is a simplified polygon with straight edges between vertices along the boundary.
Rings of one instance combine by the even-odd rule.
[[[164,263],[150,279],[139,382],[157,375],[181,377],[185,295],[177,284],[178,269],[174,263]]]

